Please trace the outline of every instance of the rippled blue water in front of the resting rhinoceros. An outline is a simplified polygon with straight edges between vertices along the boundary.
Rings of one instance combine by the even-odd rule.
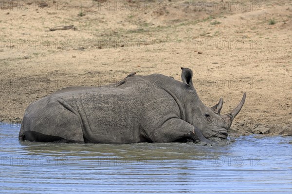
[[[18,142],[18,131],[1,124],[1,194],[292,193],[292,137],[82,145]]]

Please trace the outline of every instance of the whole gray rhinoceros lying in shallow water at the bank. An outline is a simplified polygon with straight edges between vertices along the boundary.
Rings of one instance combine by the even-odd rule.
[[[182,80],[152,74],[125,83],[69,87],[37,100],[26,109],[19,140],[65,143],[129,144],[139,142],[212,143],[227,138],[239,105],[220,115],[223,100],[206,107],[182,68]]]

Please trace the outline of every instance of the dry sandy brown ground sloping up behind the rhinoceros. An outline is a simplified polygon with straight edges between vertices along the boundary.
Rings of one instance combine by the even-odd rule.
[[[230,132],[292,135],[291,0],[0,0],[0,121],[35,100],[128,73],[180,79],[227,113]],[[56,26],[75,29],[50,31]]]

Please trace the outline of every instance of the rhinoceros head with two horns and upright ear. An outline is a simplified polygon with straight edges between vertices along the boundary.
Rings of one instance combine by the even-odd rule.
[[[186,121],[200,129],[206,138],[219,137],[226,139],[228,136],[227,131],[231,127],[233,119],[244,104],[246,93],[244,93],[241,102],[231,113],[221,115],[220,111],[222,109],[223,99],[220,98],[218,104],[212,107],[204,105],[193,85],[192,70],[183,67],[182,70],[182,81],[185,83],[184,86],[188,91],[185,96],[187,99],[187,103],[185,103]]]

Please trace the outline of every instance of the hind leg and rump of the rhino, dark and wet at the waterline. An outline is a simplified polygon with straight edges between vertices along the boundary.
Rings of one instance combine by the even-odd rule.
[[[78,116],[59,101],[30,105],[23,117],[20,140],[32,142],[84,143]]]

